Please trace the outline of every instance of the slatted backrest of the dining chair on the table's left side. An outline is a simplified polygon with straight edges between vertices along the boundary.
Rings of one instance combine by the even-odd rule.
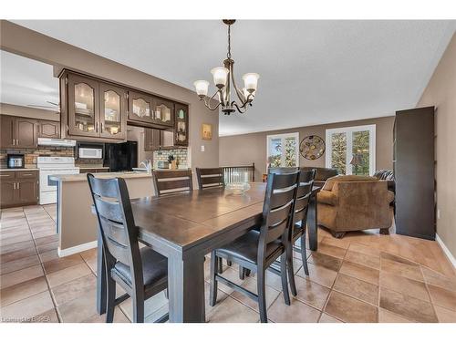
[[[98,217],[107,272],[117,262],[130,267],[133,287],[143,286],[138,227],[131,210],[127,184],[122,178],[100,179],[88,173],[88,186]]]

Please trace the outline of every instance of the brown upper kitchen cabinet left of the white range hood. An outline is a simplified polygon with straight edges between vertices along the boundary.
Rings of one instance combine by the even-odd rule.
[[[35,148],[38,123],[36,119],[1,116],[1,148]]]

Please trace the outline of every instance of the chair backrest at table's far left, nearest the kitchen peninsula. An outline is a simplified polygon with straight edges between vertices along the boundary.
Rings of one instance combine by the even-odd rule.
[[[158,195],[175,192],[192,192],[192,170],[153,171],[153,181]]]

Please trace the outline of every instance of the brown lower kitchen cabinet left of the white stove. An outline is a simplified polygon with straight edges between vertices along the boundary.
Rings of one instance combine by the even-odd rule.
[[[0,207],[37,204],[38,171],[1,171]]]

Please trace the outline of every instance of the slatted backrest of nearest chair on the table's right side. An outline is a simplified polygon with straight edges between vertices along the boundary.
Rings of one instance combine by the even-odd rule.
[[[298,179],[299,171],[270,173],[267,178],[258,246],[259,263],[264,263],[268,244],[279,239],[283,244],[288,242]]]

